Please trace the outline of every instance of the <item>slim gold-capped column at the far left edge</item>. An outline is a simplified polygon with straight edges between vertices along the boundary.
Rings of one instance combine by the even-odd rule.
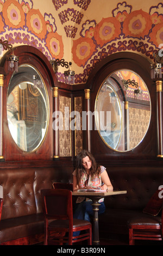
[[[4,161],[3,157],[3,88],[4,75],[0,74],[0,161]]]

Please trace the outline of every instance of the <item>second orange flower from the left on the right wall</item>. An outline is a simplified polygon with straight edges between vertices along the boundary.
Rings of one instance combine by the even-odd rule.
[[[121,34],[121,24],[115,17],[103,18],[95,29],[96,41],[101,47]]]

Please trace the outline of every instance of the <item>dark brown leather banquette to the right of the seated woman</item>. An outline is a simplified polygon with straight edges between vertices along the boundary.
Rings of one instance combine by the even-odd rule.
[[[105,204],[109,208],[142,210],[163,185],[161,166],[115,166],[107,171],[114,190],[127,190],[127,194],[108,197]]]

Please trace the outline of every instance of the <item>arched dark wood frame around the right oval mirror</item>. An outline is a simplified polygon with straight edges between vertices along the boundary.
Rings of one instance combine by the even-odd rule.
[[[151,122],[149,124],[148,131],[146,133],[143,141],[135,147],[133,150],[124,153],[118,153],[114,150],[109,149],[102,139],[98,135],[98,131],[91,131],[91,148],[93,155],[96,159],[99,160],[154,160],[158,156],[158,129],[157,122],[159,121],[156,115],[156,84],[151,80],[150,76],[150,63],[147,59],[142,56],[139,56],[135,53],[115,53],[105,58],[99,63],[95,70],[93,70],[91,76],[89,77],[89,86],[90,86],[90,109],[93,112],[95,108],[96,95],[99,87],[105,78],[112,74],[112,72],[120,69],[130,69],[135,71],[141,76],[143,81],[145,81],[149,94],[151,96]]]

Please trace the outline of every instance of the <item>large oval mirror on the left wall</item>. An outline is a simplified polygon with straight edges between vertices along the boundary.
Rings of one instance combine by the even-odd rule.
[[[11,77],[7,97],[12,138],[23,151],[35,151],[45,138],[49,118],[47,91],[39,71],[20,65]]]

